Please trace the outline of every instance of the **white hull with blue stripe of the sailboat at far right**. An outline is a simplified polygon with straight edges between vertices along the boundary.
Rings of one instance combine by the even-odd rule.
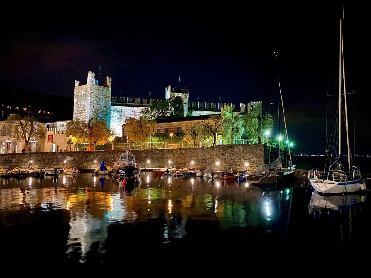
[[[343,194],[357,192],[361,190],[362,179],[354,181],[330,181],[323,179],[310,179],[311,185],[315,191],[320,194]]]

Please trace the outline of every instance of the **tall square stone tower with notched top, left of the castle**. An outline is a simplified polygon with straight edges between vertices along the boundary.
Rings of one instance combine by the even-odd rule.
[[[91,118],[105,120],[111,126],[111,77],[106,77],[105,86],[99,86],[95,73],[88,72],[88,83],[79,85],[75,80],[73,96],[73,119],[88,122]]]

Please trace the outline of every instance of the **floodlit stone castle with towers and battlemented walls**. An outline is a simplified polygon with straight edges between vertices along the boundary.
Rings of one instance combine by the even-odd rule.
[[[88,72],[86,85],[80,85],[80,81],[75,80],[73,119],[88,121],[91,118],[98,118],[105,120],[107,126],[114,130],[116,136],[122,136],[122,125],[125,119],[139,118],[142,115],[142,110],[150,106],[152,99],[148,103],[148,99],[144,98],[112,97],[111,83],[111,77],[107,76],[105,85],[98,85],[98,80],[95,80],[93,72]],[[172,88],[171,85],[165,87],[165,98],[175,100],[173,113],[180,117],[221,113],[222,107],[224,107],[224,103],[219,102],[190,102],[188,90]],[[262,111],[261,101],[249,102],[247,105],[240,103],[238,110],[236,110],[235,104],[229,105],[234,113],[249,113],[258,110],[261,114]]]

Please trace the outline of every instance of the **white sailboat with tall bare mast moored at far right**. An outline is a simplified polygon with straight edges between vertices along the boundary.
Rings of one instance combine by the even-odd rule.
[[[347,93],[345,90],[345,66],[344,66],[344,47],[342,37],[342,19],[340,19],[340,46],[339,46],[339,102],[338,102],[338,154],[329,167],[327,167],[327,156],[329,150],[326,149],[326,166],[323,173],[314,172],[309,181],[312,187],[320,194],[345,194],[366,190],[366,184],[362,180],[361,171],[351,164],[349,131],[348,131],[348,111],[347,111]],[[344,82],[342,82],[344,81]],[[342,83],[344,84],[344,93],[342,92]],[[341,117],[342,117],[342,99],[344,96],[345,106],[345,126],[347,133],[348,149],[348,169],[344,169],[339,161],[341,157]]]

